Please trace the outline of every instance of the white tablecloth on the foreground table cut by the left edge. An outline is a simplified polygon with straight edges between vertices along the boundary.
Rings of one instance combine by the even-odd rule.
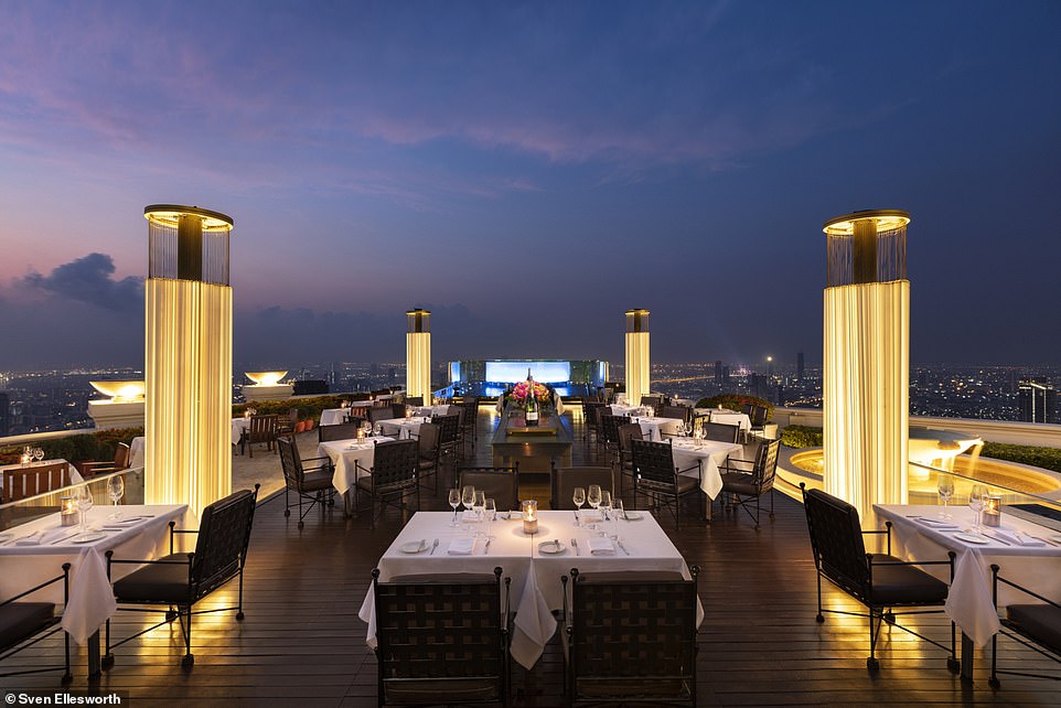
[[[114,550],[116,558],[151,560],[170,551],[170,521],[176,521],[178,528],[194,528],[194,515],[189,513],[184,504],[132,505],[119,508],[121,516],[127,519],[135,516],[150,518],[121,525],[120,530],[104,530],[103,538],[88,544],[74,544],[67,539],[79,535],[81,528],[61,526],[57,513],[7,532],[11,537],[0,544],[0,599],[10,598],[60,575],[63,564],[69,562],[69,604],[63,613],[63,629],[75,642],[84,644],[117,609],[107,580],[105,554]],[[109,505],[93,507],[88,512],[89,525],[103,528],[114,524],[115,522],[108,518],[112,511]],[[42,543],[32,546],[15,545],[18,539],[37,532],[43,532],[43,536],[36,537]],[[180,546],[178,548],[180,549]],[[136,568],[127,565],[115,566],[114,578],[121,578]],[[61,605],[63,589],[61,586],[53,586],[28,599]]]

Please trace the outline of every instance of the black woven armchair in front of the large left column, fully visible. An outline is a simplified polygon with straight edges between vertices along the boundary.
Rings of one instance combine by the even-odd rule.
[[[114,551],[107,551],[107,577],[116,564],[142,565],[125,578],[114,582],[115,599],[118,604],[153,604],[165,609],[165,619],[156,626],[161,626],[174,619],[180,620],[184,635],[184,658],[181,664],[190,668],[195,662],[192,655],[192,614],[203,612],[224,612],[236,610],[236,619],[243,620],[243,571],[247,562],[247,547],[250,544],[250,528],[254,525],[255,504],[258,498],[258,486],[254,492],[242,490],[234,492],[223,500],[210,504],[200,516],[199,530],[174,530],[174,522],[170,524],[170,555],[158,560],[117,559]],[[173,537],[175,534],[199,534],[195,553],[175,554]],[[235,607],[216,608],[192,612],[196,602],[222,587],[233,578],[239,578],[239,593]],[[173,611],[173,608],[176,611]],[[133,610],[132,608],[118,608]],[[154,611],[154,610],[139,610]],[[154,627],[150,627],[154,629]],[[148,632],[150,630],[144,630]],[[116,644],[110,643],[110,619],[107,619],[107,656],[106,665],[114,664],[110,650],[133,640],[140,632]]]

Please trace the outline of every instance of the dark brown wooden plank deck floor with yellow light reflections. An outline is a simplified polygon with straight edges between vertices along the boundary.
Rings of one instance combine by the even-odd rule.
[[[489,461],[490,420],[484,410],[473,458],[480,463]],[[596,461],[577,425],[576,438],[576,463]],[[448,509],[442,497],[444,492],[440,498],[424,496],[424,508]],[[975,682],[963,683],[947,673],[941,652],[900,631],[883,631],[881,671],[869,674],[865,620],[814,620],[815,578],[802,507],[779,495],[776,518],[758,533],[747,517],[722,516],[717,508],[710,525],[687,515],[680,533],[668,518],[661,519],[687,561],[701,569],[700,706],[1061,705],[1054,682],[1003,677],[1001,689],[992,690],[983,653]],[[132,706],[375,706],[376,665],[357,611],[369,572],[400,525],[399,515],[388,512],[373,532],[366,518],[344,519],[336,505],[311,513],[300,532],[293,516],[283,516],[281,493],[264,502],[255,518],[246,619],[236,622],[232,613],[196,618],[190,673],[180,667],[180,631],[162,627],[120,647],[115,666],[98,682],[86,678],[85,655],[78,651],[71,689],[118,691]],[[229,583],[213,597],[215,605],[231,603],[235,592]],[[833,588],[826,589],[826,602],[856,609]],[[131,613],[119,619],[118,636],[140,626]],[[950,624],[935,615],[921,626],[942,639]],[[1010,642],[1003,647],[1010,663],[1050,666]],[[58,642],[49,641],[4,668],[60,651]],[[514,705],[561,706],[561,666],[554,639],[532,672],[516,666]],[[54,691],[58,675],[3,678],[0,688]]]

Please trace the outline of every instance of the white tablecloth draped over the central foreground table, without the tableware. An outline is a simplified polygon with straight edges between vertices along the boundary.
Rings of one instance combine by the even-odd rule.
[[[384,582],[395,576],[414,573],[472,572],[491,573],[500,566],[512,578],[511,607],[516,611],[512,636],[512,657],[522,666],[530,668],[542,656],[542,651],[556,631],[551,611],[564,607],[564,589],[560,577],[578,568],[580,572],[624,570],[668,570],[689,578],[685,559],[678,553],[656,521],[641,512],[640,521],[618,522],[618,533],[629,555],[615,549],[614,555],[591,556],[588,540],[596,532],[574,525],[571,512],[539,512],[538,533],[527,536],[522,521],[499,518],[490,533],[494,540],[489,553],[483,553],[482,541],[476,541],[472,555],[451,556],[450,541],[472,535],[470,527],[452,528],[453,515],[448,512],[420,512],[415,514],[387,551],[379,559],[379,579]],[[609,532],[612,524],[609,523]],[[438,549],[430,553],[438,538]],[[538,545],[558,539],[567,549],[561,554],[543,554]],[[571,539],[578,540],[579,555],[571,548]],[[405,554],[401,547],[425,539],[427,550]],[[368,624],[367,641],[375,645],[375,599],[372,588],[362,603],[358,616]],[[697,625],[704,619],[698,608]]]

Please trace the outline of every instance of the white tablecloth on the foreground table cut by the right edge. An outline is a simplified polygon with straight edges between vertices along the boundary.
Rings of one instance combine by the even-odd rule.
[[[990,641],[998,631],[998,613],[992,601],[992,564],[1000,568],[999,575],[1048,598],[1061,598],[1061,547],[1006,546],[998,540],[985,545],[968,544],[954,534],[973,526],[973,511],[967,506],[952,506],[952,522],[958,529],[933,528],[925,522],[912,516],[939,519],[942,507],[902,506],[875,504],[877,519],[883,527],[885,521],[892,523],[892,555],[908,560],[946,560],[946,553],[957,554],[954,561],[954,582],[946,601],[946,613],[978,646]],[[1040,538],[1055,534],[1049,528],[1031,522],[1003,514],[1004,530],[1021,530]],[[996,529],[984,527],[990,536]],[[946,567],[925,566],[924,570],[950,581]],[[1033,598],[999,587],[999,604],[1011,601],[1035,602]]]

